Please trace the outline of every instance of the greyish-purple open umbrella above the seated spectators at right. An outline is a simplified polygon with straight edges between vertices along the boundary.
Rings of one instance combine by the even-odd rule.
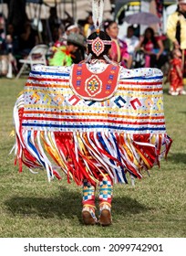
[[[160,18],[151,13],[140,12],[124,17],[123,21],[129,24],[151,25],[160,23]]]

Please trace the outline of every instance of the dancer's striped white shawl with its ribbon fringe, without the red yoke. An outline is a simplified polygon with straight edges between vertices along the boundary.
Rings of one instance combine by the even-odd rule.
[[[122,69],[112,98],[87,101],[71,89],[70,70],[36,66],[15,102],[19,171],[23,164],[32,172],[44,168],[48,180],[60,179],[63,171],[68,182],[81,186],[87,179],[95,186],[100,174],[113,183],[128,183],[127,174],[141,178],[160,165],[171,147],[161,71]]]

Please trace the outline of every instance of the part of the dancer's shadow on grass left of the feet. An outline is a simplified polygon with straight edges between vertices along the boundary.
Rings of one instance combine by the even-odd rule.
[[[5,201],[5,206],[14,216],[71,219],[81,212],[81,193],[63,188],[57,197],[12,197]]]

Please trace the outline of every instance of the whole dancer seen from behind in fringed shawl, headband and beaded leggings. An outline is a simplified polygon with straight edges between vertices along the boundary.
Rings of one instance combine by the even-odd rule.
[[[88,59],[71,67],[36,66],[15,103],[15,154],[20,171],[44,168],[48,179],[83,186],[86,224],[111,223],[113,183],[141,178],[171,146],[166,133],[162,73],[124,69],[107,55],[111,39],[99,31],[103,1],[93,1],[97,32]],[[99,219],[95,189],[99,186]]]

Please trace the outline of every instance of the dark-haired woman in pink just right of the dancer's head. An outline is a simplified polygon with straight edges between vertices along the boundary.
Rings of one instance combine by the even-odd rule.
[[[120,62],[123,67],[128,68],[129,67],[128,63],[130,58],[128,47],[124,41],[118,38],[119,27],[117,22],[113,20],[105,21],[104,30],[112,39],[109,58],[116,62]]]

